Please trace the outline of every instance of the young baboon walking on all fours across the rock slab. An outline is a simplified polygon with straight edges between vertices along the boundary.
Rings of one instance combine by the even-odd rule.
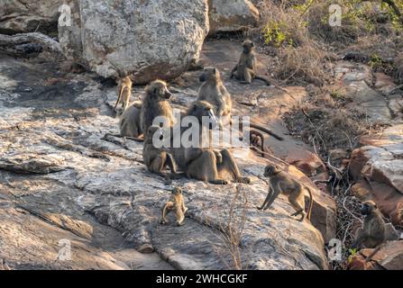
[[[306,216],[307,219],[310,220],[314,199],[310,189],[305,184],[301,184],[299,181],[283,172],[282,169],[272,165],[268,165],[264,168],[264,176],[270,177],[269,192],[261,207],[257,207],[259,210],[268,209],[271,203],[279,196],[279,193],[284,193],[289,196],[289,203],[296,210],[296,212],[290,216],[300,214],[301,218],[299,221],[303,221]],[[307,213],[305,212],[304,188],[307,189],[310,198]]]

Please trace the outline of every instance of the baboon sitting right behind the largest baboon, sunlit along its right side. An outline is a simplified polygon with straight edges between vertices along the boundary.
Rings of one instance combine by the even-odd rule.
[[[228,115],[231,121],[231,109],[233,107],[231,94],[226,91],[218,69],[205,67],[200,76],[200,82],[203,84],[198,90],[197,101],[206,101],[215,107],[215,115],[217,115],[220,125],[222,125],[223,116]]]

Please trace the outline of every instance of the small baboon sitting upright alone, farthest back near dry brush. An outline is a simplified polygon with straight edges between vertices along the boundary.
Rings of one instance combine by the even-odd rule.
[[[270,80],[267,77],[257,75],[257,58],[252,40],[243,41],[243,53],[238,64],[231,71],[231,78],[241,80],[243,84],[251,84],[253,79],[260,79],[267,85]]]

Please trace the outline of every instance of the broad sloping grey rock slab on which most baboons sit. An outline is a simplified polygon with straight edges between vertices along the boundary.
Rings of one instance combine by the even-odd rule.
[[[110,115],[113,86],[101,85],[93,74],[60,75],[51,63],[32,66],[5,58],[0,68],[5,71],[0,84],[0,218],[7,219],[0,221],[0,259],[10,268],[128,268],[126,255],[105,254],[105,246],[90,245],[93,239],[106,241],[102,235],[111,227],[132,249],[156,251],[175,268],[327,268],[321,232],[308,221],[291,219],[293,209],[283,196],[270,210],[256,210],[267,193],[261,180],[267,159],[233,149],[243,175],[252,177],[252,184],[238,190],[235,184],[187,178],[166,184],[142,164],[141,143],[102,139],[117,130]],[[188,72],[184,79],[197,76]],[[173,105],[184,109],[195,99],[198,85],[173,86]],[[141,92],[142,87],[134,87],[133,94]],[[312,185],[295,167],[289,173]],[[172,219],[167,226],[158,223],[160,205],[173,184],[183,187],[189,208],[183,227],[175,227]],[[316,202],[320,193],[315,190]],[[32,231],[19,247],[14,238],[23,236],[15,234],[15,223]],[[80,258],[60,261],[60,238],[70,239],[77,249],[73,255]],[[26,251],[31,257],[23,257]],[[241,252],[239,261],[234,261],[234,251]]]

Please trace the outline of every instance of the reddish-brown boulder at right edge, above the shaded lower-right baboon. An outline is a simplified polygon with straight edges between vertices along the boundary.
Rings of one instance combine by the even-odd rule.
[[[377,202],[394,224],[403,223],[403,125],[392,126],[381,136],[362,137],[362,148],[353,151],[350,175],[357,182],[353,193],[362,201]]]

